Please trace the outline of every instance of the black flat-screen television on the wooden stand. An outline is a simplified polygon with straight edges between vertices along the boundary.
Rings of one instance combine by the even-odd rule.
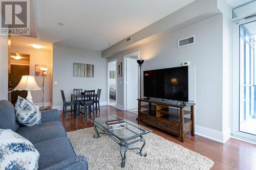
[[[188,102],[188,66],[146,70],[144,96]]]

